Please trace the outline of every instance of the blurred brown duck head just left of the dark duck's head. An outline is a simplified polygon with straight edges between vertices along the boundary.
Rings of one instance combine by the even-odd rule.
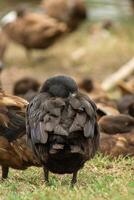
[[[31,101],[37,95],[40,83],[31,77],[25,77],[15,82],[13,94]]]

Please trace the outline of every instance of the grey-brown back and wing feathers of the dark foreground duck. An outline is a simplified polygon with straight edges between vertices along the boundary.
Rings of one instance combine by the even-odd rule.
[[[78,133],[94,140],[99,138],[96,106],[82,95],[63,99],[39,94],[27,109],[27,133],[32,146],[46,144],[49,135],[71,138]]]

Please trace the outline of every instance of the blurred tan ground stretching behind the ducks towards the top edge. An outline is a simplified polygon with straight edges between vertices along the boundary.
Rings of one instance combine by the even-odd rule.
[[[1,20],[22,3],[29,13],[42,12],[39,0],[0,0]],[[75,30],[58,38],[49,48],[33,48],[29,56],[24,45],[12,40],[9,33],[1,75],[5,90],[12,92],[14,83],[25,76],[43,82],[55,74],[68,74],[78,81],[92,77],[102,83],[133,58],[134,1],[86,0],[85,5],[87,18]]]

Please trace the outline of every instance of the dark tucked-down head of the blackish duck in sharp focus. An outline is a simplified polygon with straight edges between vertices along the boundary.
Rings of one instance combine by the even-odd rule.
[[[43,84],[40,92],[47,92],[53,97],[68,97],[78,92],[76,82],[69,76],[54,76]]]

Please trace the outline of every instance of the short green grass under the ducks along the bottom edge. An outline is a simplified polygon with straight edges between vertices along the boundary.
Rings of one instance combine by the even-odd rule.
[[[10,170],[0,184],[1,200],[133,200],[134,160],[96,155],[79,172],[70,188],[71,175],[50,174],[50,185],[43,182],[42,169]]]

